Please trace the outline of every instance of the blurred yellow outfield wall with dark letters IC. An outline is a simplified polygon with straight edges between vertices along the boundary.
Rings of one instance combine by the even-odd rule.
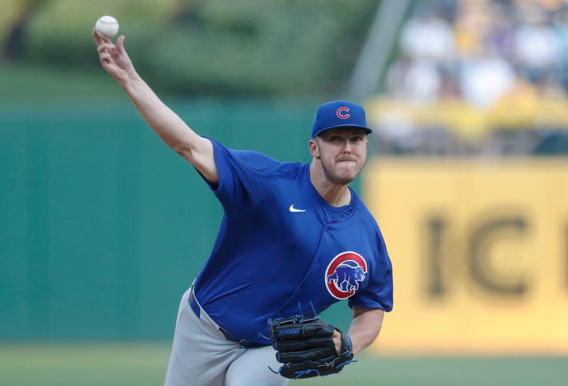
[[[568,160],[369,162],[394,274],[373,348],[568,353]]]

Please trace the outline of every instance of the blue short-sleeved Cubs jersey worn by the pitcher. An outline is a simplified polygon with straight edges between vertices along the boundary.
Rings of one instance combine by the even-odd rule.
[[[209,186],[224,217],[194,288],[219,326],[269,345],[267,319],[295,315],[299,303],[318,313],[342,299],[391,311],[391,260],[354,191],[350,205],[334,208],[312,185],[309,164],[212,144],[219,183]]]

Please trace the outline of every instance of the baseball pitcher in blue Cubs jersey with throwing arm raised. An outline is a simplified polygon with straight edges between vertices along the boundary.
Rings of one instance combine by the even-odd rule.
[[[393,307],[381,230],[349,188],[367,156],[364,109],[322,104],[309,164],[231,150],[158,99],[134,70],[124,36],[116,45],[93,38],[104,70],[224,209],[212,252],[182,296],[165,385],[276,386],[346,368]],[[353,313],[349,331],[318,317],[343,299]]]

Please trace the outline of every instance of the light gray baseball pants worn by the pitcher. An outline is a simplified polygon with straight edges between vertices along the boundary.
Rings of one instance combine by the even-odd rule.
[[[192,288],[180,301],[165,386],[285,386],[288,379],[274,374],[280,368],[271,345],[245,348],[228,341],[219,325],[200,307],[192,311]]]

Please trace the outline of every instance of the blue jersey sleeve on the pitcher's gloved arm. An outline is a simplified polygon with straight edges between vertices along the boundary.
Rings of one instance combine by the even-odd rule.
[[[380,237],[378,258],[371,267],[371,277],[363,291],[349,298],[349,307],[369,309],[393,309],[393,265],[388,257],[383,237]]]

